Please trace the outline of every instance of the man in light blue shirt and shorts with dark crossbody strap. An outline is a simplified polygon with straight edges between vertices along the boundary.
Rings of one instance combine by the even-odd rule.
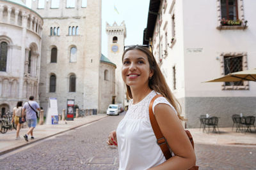
[[[36,101],[34,101],[34,96],[29,97],[29,101],[24,104],[22,110],[22,120],[24,121],[24,117],[26,116],[26,121],[28,122],[28,132],[24,135],[24,139],[28,141],[28,136],[31,134],[31,139],[35,139],[33,136],[33,130],[36,127],[37,123],[37,112],[36,110],[40,111],[40,106]],[[26,113],[25,113],[26,111]]]

